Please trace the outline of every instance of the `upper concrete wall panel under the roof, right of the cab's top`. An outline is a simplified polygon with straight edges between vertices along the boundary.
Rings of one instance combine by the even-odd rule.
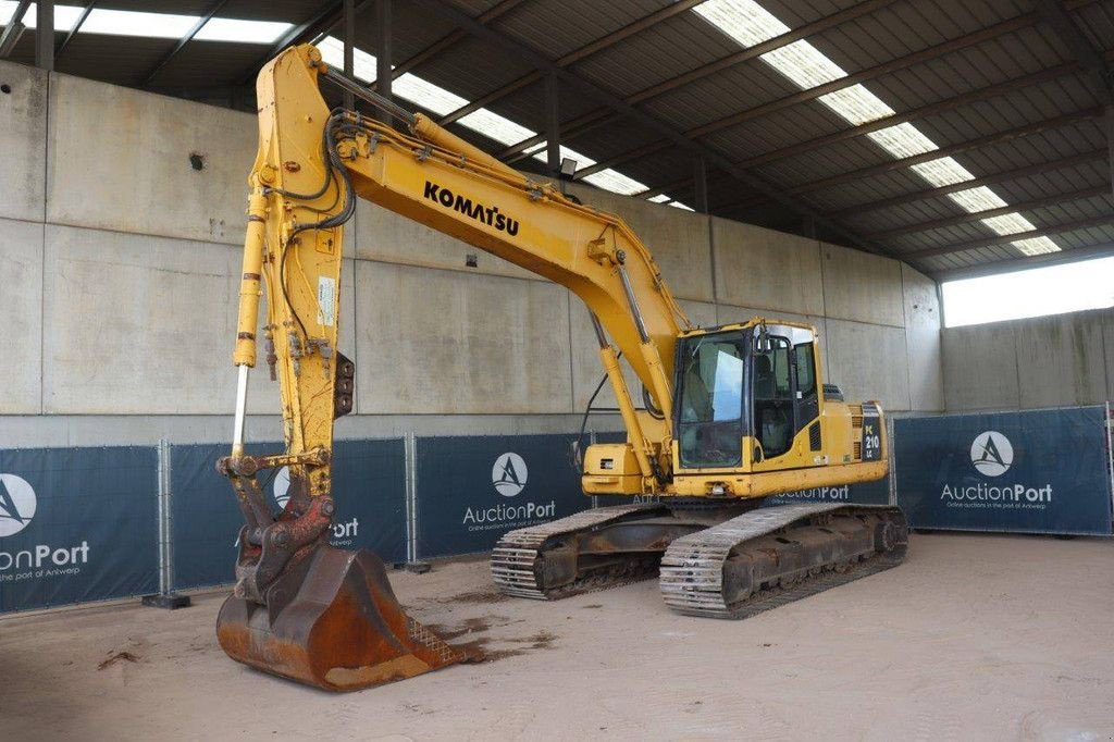
[[[838,245],[820,245],[828,316],[900,328],[901,264]]]

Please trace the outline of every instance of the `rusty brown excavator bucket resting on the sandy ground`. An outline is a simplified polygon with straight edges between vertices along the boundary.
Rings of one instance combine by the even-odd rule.
[[[216,622],[228,656],[267,673],[355,691],[466,658],[402,611],[367,549],[315,547],[267,593],[267,605],[233,595]]]

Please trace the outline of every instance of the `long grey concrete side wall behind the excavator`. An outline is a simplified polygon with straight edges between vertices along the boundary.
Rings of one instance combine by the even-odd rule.
[[[0,446],[227,439],[254,117],[9,62],[0,81],[12,89],[0,96]],[[578,193],[643,235],[695,322],[808,318],[849,396],[942,407],[936,287],[916,271]],[[602,372],[587,312],[566,290],[367,203],[344,254],[342,350],[358,393],[340,436],[579,424]],[[250,436],[278,436],[265,369],[250,411]]]

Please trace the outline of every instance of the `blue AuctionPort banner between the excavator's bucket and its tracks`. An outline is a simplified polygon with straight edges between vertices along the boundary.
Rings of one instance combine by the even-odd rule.
[[[590,507],[571,463],[574,438],[419,438],[419,558],[486,551],[508,530]]]

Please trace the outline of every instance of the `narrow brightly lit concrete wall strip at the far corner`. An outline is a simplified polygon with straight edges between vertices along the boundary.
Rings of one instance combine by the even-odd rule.
[[[939,411],[944,409],[944,364],[936,282],[902,264],[901,285],[912,409]]]

